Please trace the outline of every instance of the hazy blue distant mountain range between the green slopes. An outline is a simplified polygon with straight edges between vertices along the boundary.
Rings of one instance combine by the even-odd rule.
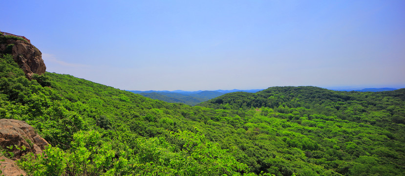
[[[133,93],[140,94],[145,97],[149,97],[155,100],[162,100],[169,103],[183,103],[186,105],[197,105],[201,102],[208,101],[215,97],[221,96],[226,93],[231,92],[251,92],[256,93],[263,89],[251,89],[251,90],[198,90],[198,91],[184,91],[184,90],[147,90],[147,91],[139,91],[139,90],[127,90]]]

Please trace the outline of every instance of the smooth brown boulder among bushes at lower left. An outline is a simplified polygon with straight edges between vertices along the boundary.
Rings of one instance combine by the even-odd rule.
[[[14,145],[26,147],[25,151],[13,147],[11,152],[15,154],[14,158],[17,159],[29,152],[42,153],[45,146],[49,144],[24,121],[0,119],[0,146],[7,149],[6,147]]]

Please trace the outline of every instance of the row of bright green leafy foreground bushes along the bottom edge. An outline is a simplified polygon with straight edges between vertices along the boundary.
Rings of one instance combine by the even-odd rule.
[[[176,153],[164,138],[138,137],[133,149],[113,149],[99,132],[80,131],[66,152],[48,146],[43,154],[25,155],[18,164],[32,176],[238,175],[247,169],[217,144],[204,141],[201,134],[178,132],[171,136],[185,140],[186,148]]]

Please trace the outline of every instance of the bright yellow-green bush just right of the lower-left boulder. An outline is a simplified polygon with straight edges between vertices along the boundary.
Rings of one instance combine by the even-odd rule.
[[[42,154],[28,154],[18,164],[32,176],[98,176],[112,164],[115,152],[95,131],[77,132],[71,148],[63,151],[48,146]]]

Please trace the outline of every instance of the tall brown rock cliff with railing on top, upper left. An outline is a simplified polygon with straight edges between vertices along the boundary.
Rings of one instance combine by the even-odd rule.
[[[34,45],[15,38],[7,38],[0,33],[0,54],[12,54],[14,61],[22,68],[28,79],[34,73],[45,73],[46,66],[43,63],[42,53]]]

